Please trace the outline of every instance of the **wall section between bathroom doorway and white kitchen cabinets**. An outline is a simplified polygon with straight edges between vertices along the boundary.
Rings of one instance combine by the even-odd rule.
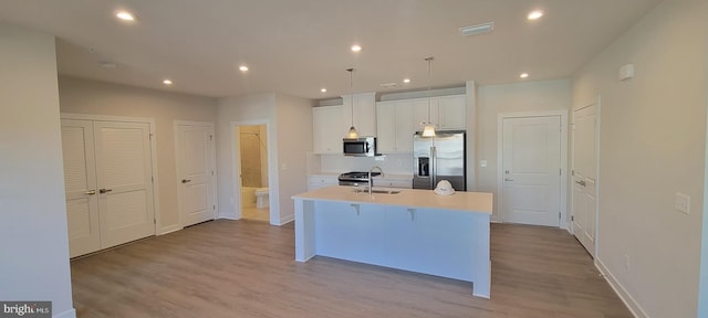
[[[306,151],[312,150],[311,109],[314,100],[278,94],[275,103],[280,198],[278,224],[284,224],[295,216],[292,195],[308,191]],[[271,191],[273,188],[270,188]]]

